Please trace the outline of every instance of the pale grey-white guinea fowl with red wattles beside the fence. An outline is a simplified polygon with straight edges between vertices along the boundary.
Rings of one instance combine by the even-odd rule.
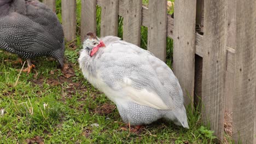
[[[189,128],[176,76],[149,51],[118,37],[88,33],[78,61],[84,77],[117,105],[124,122],[166,118]]]

